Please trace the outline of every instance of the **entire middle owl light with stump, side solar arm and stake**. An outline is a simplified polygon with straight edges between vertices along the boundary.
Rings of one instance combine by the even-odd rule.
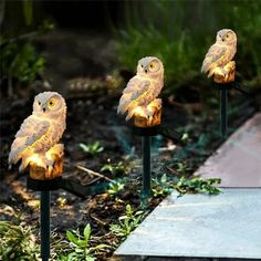
[[[117,112],[127,114],[134,134],[142,136],[143,190],[142,201],[147,205],[152,192],[150,185],[150,143],[152,136],[161,134],[173,139],[181,139],[174,129],[161,126],[161,100],[158,98],[164,86],[164,65],[154,56],[143,58],[137,64],[137,74],[129,80],[123,91]]]

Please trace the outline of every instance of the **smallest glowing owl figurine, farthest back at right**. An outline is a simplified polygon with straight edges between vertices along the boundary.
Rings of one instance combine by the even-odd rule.
[[[218,31],[216,43],[210,46],[205,56],[201,72],[207,73],[208,77],[213,75],[228,79],[230,72],[236,67],[232,61],[237,52],[237,34],[231,29]]]

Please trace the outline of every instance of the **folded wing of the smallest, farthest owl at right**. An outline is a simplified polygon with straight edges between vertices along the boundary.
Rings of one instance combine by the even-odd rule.
[[[221,65],[225,61],[228,48],[226,45],[213,44],[205,56],[201,72],[207,73],[212,67]]]

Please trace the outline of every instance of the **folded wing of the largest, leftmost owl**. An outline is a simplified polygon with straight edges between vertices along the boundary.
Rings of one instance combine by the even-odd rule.
[[[32,146],[48,133],[49,127],[50,123],[48,121],[42,121],[33,115],[29,116],[22,123],[12,143],[8,159],[9,164],[15,164],[28,147]]]

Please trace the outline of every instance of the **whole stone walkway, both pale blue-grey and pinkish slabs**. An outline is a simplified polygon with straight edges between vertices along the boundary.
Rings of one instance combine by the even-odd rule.
[[[152,261],[261,260],[261,113],[196,174],[222,178],[222,192],[180,198],[173,192],[115,255]]]

